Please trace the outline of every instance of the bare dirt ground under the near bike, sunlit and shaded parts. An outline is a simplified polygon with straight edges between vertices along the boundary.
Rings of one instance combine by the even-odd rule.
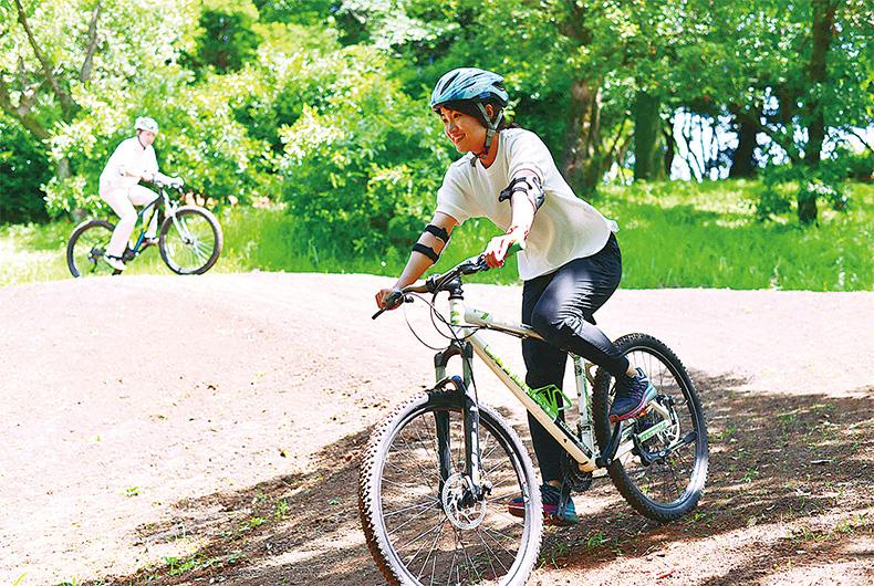
[[[370,320],[387,282],[1,289],[0,584],[382,584],[356,459],[433,378],[399,312]],[[467,291],[519,313],[518,287]],[[657,525],[596,480],[575,498],[583,522],[548,531],[530,584],[872,583],[874,294],[620,291],[597,317],[613,337],[654,334],[693,372],[708,490],[694,515]],[[518,342],[499,344],[519,365]],[[526,432],[478,373],[480,396]]]

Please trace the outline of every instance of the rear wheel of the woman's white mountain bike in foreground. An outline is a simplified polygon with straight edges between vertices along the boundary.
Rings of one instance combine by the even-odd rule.
[[[677,356],[663,342],[646,334],[630,334],[615,342],[632,366],[649,376],[657,402],[669,414],[668,425],[647,437],[646,430],[663,421],[651,407],[645,415],[623,423],[623,437],[645,438],[607,468],[620,493],[638,513],[654,521],[674,521],[698,504],[707,481],[707,423],[695,385]],[[595,437],[603,451],[610,442],[610,406],[614,379],[603,368],[595,376],[592,415]],[[668,450],[664,457],[652,458]],[[652,460],[652,461],[651,461]]]

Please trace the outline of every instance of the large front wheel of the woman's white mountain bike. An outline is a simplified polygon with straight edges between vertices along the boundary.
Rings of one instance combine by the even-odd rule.
[[[458,498],[467,482],[461,400],[448,391],[417,397],[371,437],[358,511],[367,546],[389,584],[516,586],[537,562],[543,516],[531,459],[516,432],[482,405],[480,457],[491,492],[479,502]],[[443,443],[438,436],[446,438]],[[516,498],[524,505],[523,519],[508,511]]]

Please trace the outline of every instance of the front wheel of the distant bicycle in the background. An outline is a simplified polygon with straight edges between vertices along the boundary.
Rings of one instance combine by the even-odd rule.
[[[212,212],[195,206],[176,210],[160,227],[160,258],[177,274],[204,274],[221,253],[221,227]]]

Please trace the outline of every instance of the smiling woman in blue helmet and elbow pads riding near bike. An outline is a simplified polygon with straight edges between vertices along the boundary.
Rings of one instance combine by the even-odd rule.
[[[467,155],[449,166],[431,222],[414,244],[395,286],[381,290],[376,304],[385,307],[393,292],[414,283],[436,263],[456,226],[468,218],[487,217],[506,230],[486,247],[489,266],[501,266],[512,244],[526,244],[519,252],[519,276],[524,282],[522,322],[545,341],[522,342],[528,386],[561,389],[570,352],[616,378],[611,421],[636,417],[655,389],[643,370],[633,368],[595,326],[593,317],[622,279],[622,255],[613,233],[616,224],[573,193],[534,133],[507,123],[503,108],[509,95],[502,82],[502,76],[476,67],[452,70],[437,82],[430,107],[456,149]],[[563,448],[530,414],[528,419],[547,520],[576,523],[572,500],[559,510]],[[510,512],[522,514],[521,499],[516,501]]]

